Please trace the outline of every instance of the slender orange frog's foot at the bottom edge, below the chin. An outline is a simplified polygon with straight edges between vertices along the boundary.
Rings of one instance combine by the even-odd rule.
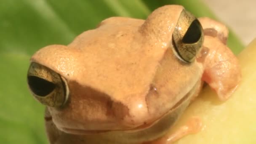
[[[179,127],[174,132],[168,132],[160,139],[149,141],[143,144],[173,144],[173,142],[181,139],[184,136],[199,132],[201,128],[201,120],[198,117],[191,117],[187,123]]]

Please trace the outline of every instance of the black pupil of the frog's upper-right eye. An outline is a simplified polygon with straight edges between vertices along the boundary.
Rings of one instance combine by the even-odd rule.
[[[196,43],[201,37],[201,24],[195,19],[187,29],[186,34],[182,38],[183,43]]]

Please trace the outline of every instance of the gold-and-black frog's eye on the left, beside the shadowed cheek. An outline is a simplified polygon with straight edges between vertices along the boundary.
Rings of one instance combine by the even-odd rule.
[[[67,81],[41,64],[30,64],[27,82],[33,96],[49,107],[62,107],[69,96]]]

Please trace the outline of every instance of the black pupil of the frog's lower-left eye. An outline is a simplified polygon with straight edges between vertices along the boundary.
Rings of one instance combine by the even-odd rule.
[[[51,93],[55,84],[36,76],[28,76],[28,84],[33,93],[37,96],[46,96]]]

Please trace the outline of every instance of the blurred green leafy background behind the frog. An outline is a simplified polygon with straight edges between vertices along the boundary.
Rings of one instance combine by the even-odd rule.
[[[110,16],[146,19],[162,5],[216,17],[200,0],[0,0],[0,144],[45,144],[43,106],[28,91],[29,58],[51,44],[70,43]],[[231,32],[228,45],[243,45]]]

